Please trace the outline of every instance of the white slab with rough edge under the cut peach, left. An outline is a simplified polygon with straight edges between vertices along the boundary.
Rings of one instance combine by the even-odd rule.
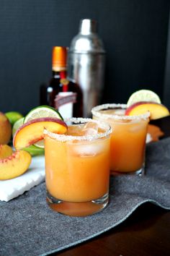
[[[25,191],[45,180],[45,157],[39,155],[32,157],[32,163],[26,173],[14,179],[0,181],[0,200],[8,202],[14,197],[22,195]]]

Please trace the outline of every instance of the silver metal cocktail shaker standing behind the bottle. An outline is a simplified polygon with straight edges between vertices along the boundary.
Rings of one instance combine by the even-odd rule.
[[[84,116],[91,116],[91,108],[99,105],[104,88],[105,51],[97,35],[95,20],[81,20],[79,33],[68,49],[68,79],[83,91]]]

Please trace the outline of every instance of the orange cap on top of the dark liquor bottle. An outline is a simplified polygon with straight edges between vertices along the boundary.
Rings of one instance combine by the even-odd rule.
[[[52,69],[55,72],[66,70],[67,48],[54,46],[52,54]]]

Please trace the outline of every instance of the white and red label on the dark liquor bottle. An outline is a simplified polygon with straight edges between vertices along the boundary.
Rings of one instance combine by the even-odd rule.
[[[76,103],[77,94],[73,92],[61,92],[55,96],[55,108],[64,118],[73,117],[73,103]]]

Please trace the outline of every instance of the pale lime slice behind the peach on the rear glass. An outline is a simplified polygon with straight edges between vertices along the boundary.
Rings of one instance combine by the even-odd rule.
[[[161,103],[161,99],[159,98],[159,96],[152,90],[137,90],[128,99],[127,108],[139,101],[151,101],[155,103]]]

